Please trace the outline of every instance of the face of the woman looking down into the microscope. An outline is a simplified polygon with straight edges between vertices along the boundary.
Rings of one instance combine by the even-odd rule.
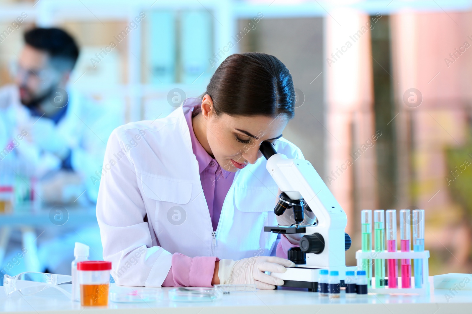
[[[282,136],[288,119],[281,114],[278,117],[230,116],[213,111],[213,102],[209,95],[202,101],[202,113],[198,116],[201,130],[206,134],[207,143],[202,146],[211,151],[222,169],[236,172],[245,165],[255,163],[262,157],[259,146],[263,141],[275,142]],[[201,123],[203,122],[203,123]],[[202,125],[203,124],[203,125]],[[200,140],[200,139],[199,139]]]

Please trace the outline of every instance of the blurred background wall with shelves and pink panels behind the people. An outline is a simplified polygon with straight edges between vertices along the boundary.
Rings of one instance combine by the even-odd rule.
[[[0,86],[23,32],[60,26],[81,47],[71,84],[124,122],[198,97],[232,53],[277,56],[297,92],[284,137],[345,209],[348,264],[362,209],[420,208],[430,274],[471,269],[472,1],[1,0],[0,31],[22,12],[0,42]]]

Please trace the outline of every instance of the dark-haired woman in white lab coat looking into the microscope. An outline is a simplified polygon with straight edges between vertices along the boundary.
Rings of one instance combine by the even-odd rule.
[[[275,56],[228,56],[202,98],[166,118],[128,123],[108,140],[97,201],[103,258],[119,285],[283,285],[266,271],[293,267],[295,235],[264,232],[287,225],[274,206],[280,191],[259,146],[268,141],[303,159],[282,137],[295,92]],[[305,211],[306,223],[313,223]],[[272,256],[270,256],[272,255]],[[276,256],[273,256],[276,255]]]

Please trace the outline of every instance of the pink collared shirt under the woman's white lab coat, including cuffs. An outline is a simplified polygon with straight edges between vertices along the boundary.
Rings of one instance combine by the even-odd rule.
[[[203,194],[210,211],[211,224],[213,231],[218,226],[223,201],[228,194],[228,190],[233,183],[235,172],[221,169],[218,162],[212,158],[195,137],[192,125],[192,116],[196,115],[201,106],[199,101],[184,102],[184,106],[190,106],[191,109],[185,114],[190,139],[192,140],[192,149],[198,161],[200,169],[200,181],[202,182]],[[287,250],[294,247],[285,235],[277,245],[276,255],[281,258],[287,258]],[[197,256],[190,258],[180,253],[172,255],[172,266],[162,287],[211,287],[215,262],[219,261],[216,256]]]

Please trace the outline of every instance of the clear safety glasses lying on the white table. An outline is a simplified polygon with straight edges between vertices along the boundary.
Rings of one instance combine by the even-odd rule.
[[[68,298],[72,298],[69,292],[58,286],[61,283],[70,281],[72,281],[72,276],[69,275],[25,272],[13,277],[4,275],[3,288],[8,298],[11,298],[15,291],[24,296],[29,296],[48,288],[55,288]]]

